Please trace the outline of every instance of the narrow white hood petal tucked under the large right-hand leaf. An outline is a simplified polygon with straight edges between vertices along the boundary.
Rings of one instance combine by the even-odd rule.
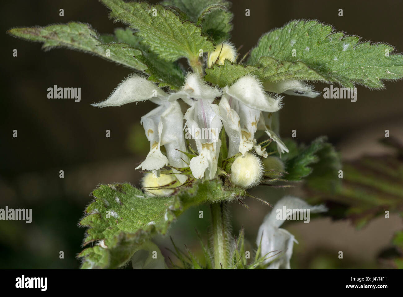
[[[320,95],[320,92],[314,91],[314,87],[300,80],[280,80],[279,82],[266,82],[264,89],[273,93],[285,93],[287,95],[306,96],[314,98]]]

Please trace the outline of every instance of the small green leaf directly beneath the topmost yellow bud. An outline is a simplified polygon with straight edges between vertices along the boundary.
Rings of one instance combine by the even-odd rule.
[[[204,79],[220,87],[230,86],[238,78],[251,74],[256,70],[257,68],[253,66],[244,66],[225,60],[224,65],[213,64],[212,68],[206,68]]]

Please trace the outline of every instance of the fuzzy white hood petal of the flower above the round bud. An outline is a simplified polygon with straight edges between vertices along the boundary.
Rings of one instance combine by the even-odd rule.
[[[250,75],[239,78],[230,87],[225,86],[224,93],[256,110],[276,112],[281,108],[281,97],[269,97],[260,81]]]

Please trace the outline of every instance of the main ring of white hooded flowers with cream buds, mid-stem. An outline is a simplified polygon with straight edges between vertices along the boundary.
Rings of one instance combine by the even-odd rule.
[[[224,63],[225,59],[233,61],[236,51],[231,44],[224,43],[210,53],[208,65]],[[270,86],[281,93],[297,90],[297,95],[314,94],[312,90],[299,81],[279,82],[278,86]],[[279,91],[280,90],[280,91]],[[185,84],[174,93],[165,93],[153,82],[139,75],[132,75],[120,83],[112,94],[103,102],[93,104],[97,107],[120,106],[126,103],[150,100],[159,105],[141,117],[147,139],[150,141],[150,152],[145,160],[136,168],[157,171],[165,165],[176,168],[189,164],[192,175],[196,179],[206,177],[213,179],[217,173],[217,161],[221,141],[219,134],[222,126],[229,139],[228,157],[242,154],[238,171],[231,171],[233,182],[239,186],[255,185],[262,177],[260,159],[249,152],[255,152],[266,158],[266,149],[256,143],[255,133],[265,131],[277,143],[279,153],[288,152],[281,139],[270,129],[271,114],[282,107],[279,96],[270,97],[261,82],[251,75],[239,78],[231,86],[217,88],[208,85],[199,74],[189,73]],[[215,98],[220,97],[218,104]],[[185,115],[181,111],[178,99],[185,101],[189,108]],[[185,120],[185,124],[183,123]],[[184,130],[195,141],[198,156],[189,158],[185,154],[186,142]],[[164,145],[166,156],[160,147]],[[249,154],[249,155],[247,155]],[[247,157],[247,158],[246,158]],[[257,159],[251,161],[251,159]],[[250,165],[250,166],[249,166]],[[248,170],[250,167],[250,170]],[[178,174],[177,179],[184,183],[186,177]]]

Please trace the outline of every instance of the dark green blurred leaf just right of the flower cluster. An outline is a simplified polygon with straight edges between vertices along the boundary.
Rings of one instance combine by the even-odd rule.
[[[325,141],[326,137],[318,137],[308,147],[300,148],[297,156],[287,160],[285,171],[288,174],[284,178],[289,181],[299,181],[310,175],[312,172],[310,165],[319,161],[317,153],[324,148]]]

